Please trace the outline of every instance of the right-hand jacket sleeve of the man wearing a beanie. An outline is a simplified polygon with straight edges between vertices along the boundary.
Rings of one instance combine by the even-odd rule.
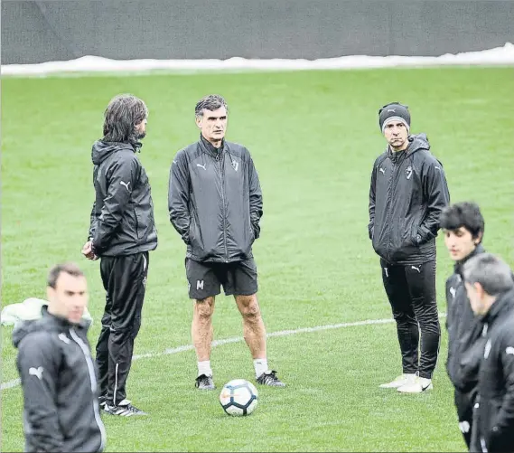
[[[422,184],[427,213],[418,229],[418,244],[428,242],[437,236],[439,216],[444,207],[450,203],[448,184],[440,162],[435,160],[427,166],[422,175]]]

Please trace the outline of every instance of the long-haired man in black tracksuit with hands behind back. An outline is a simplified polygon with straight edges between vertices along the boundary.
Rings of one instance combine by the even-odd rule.
[[[154,203],[137,152],[145,137],[148,109],[132,95],[112,99],[105,111],[104,137],[93,145],[89,241],[82,253],[101,258],[106,307],[97,344],[100,403],[113,415],[145,415],[126,399],[134,340],[141,326],[148,276],[148,252],[157,247]]]

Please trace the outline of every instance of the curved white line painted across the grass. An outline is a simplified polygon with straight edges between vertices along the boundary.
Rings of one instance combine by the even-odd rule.
[[[440,313],[439,317],[446,316],[445,313]],[[355,321],[353,323],[340,323],[340,324],[329,324],[326,326],[315,326],[315,327],[302,327],[299,329],[292,330],[279,330],[277,332],[271,332],[267,334],[267,337],[270,336],[288,336],[288,335],[296,335],[296,334],[310,334],[312,332],[321,332],[323,330],[333,330],[333,329],[341,329],[344,327],[355,327],[355,326],[372,326],[377,324],[391,324],[394,323],[393,318],[388,319],[367,319],[365,321]],[[223,344],[230,343],[238,343],[242,342],[244,338],[242,336],[234,336],[232,338],[224,338],[223,340],[214,340],[212,342],[212,347],[221,346]],[[164,350],[164,353],[148,353],[148,354],[136,354],[132,356],[132,360],[139,359],[149,359],[152,357],[158,357],[159,355],[168,355],[168,354],[179,354],[184,353],[185,351],[192,351],[194,349],[192,344],[183,344],[182,346],[173,347],[170,349]],[[14,379],[9,382],[2,382],[1,390],[12,389],[17,387],[20,384],[19,379]]]

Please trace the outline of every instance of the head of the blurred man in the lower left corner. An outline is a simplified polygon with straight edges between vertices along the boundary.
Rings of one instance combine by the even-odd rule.
[[[47,288],[51,314],[68,319],[78,324],[84,309],[88,306],[88,283],[84,276],[75,277],[61,272],[55,288]]]

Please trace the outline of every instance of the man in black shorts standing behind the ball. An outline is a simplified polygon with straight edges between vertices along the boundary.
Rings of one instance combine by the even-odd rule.
[[[225,141],[228,107],[218,95],[195,108],[200,140],[177,153],[170,169],[168,207],[173,227],[187,245],[189,297],[195,300],[192,342],[198,359],[196,387],[215,389],[210,368],[212,314],[223,286],[243,316],[245,340],[257,383],[284,387],[268,369],[266,328],[257,303],[257,266],[252,244],[258,238],[262,193],[248,149]]]

